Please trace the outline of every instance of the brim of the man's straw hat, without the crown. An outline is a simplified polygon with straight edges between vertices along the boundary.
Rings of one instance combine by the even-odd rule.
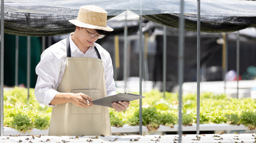
[[[114,30],[109,26],[106,26],[106,27],[95,26],[95,25],[92,25],[92,24],[83,23],[83,22],[81,22],[79,20],[76,20],[76,19],[68,20],[68,21],[70,21],[70,23],[74,24],[75,26],[85,27],[85,28],[89,28],[89,29],[99,29],[99,30],[105,30],[105,31],[108,31],[108,32],[112,32]]]

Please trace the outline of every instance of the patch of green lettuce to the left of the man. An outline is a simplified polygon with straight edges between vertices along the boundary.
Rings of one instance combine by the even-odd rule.
[[[26,133],[33,128],[48,129],[52,108],[39,104],[34,89],[4,90],[4,126]]]

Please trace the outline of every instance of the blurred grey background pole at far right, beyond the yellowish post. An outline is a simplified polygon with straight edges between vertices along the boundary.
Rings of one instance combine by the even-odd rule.
[[[236,98],[239,98],[239,66],[240,66],[240,36],[239,32],[237,31],[236,35],[236,82],[237,82],[237,93]]]

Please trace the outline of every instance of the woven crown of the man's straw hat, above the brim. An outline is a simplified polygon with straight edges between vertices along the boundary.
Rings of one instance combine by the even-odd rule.
[[[80,8],[77,20],[82,23],[91,24],[94,26],[106,27],[107,26],[107,13],[98,13]]]

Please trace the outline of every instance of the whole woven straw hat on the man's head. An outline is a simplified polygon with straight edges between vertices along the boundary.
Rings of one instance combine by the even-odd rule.
[[[80,7],[77,18],[68,21],[79,27],[113,31],[111,27],[107,26],[107,11],[95,5]]]

